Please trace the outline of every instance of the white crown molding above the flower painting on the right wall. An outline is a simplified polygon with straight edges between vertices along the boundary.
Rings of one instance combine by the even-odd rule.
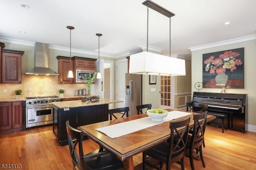
[[[231,40],[225,40],[225,41],[222,41],[222,42],[209,43],[209,44],[206,44],[206,45],[190,47],[188,49],[190,49],[190,51],[196,51],[196,50],[200,50],[200,49],[218,47],[218,46],[228,45],[228,44],[232,44],[232,43],[246,42],[246,41],[250,41],[250,40],[256,40],[256,34],[253,34],[253,35],[250,35],[250,36],[244,36],[244,37],[240,37],[240,38],[234,38],[234,39],[231,39]]]

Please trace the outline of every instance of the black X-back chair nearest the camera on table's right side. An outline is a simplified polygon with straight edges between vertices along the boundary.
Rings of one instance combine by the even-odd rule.
[[[150,148],[142,153],[142,168],[145,169],[145,164],[157,169],[162,170],[163,163],[166,163],[166,170],[170,170],[170,166],[174,162],[180,162],[181,169],[184,170],[184,151],[188,140],[188,127],[190,116],[181,121],[170,122],[170,140],[165,141],[153,148]],[[183,130],[179,130],[183,127]],[[160,163],[154,165],[150,160],[154,158],[159,160]],[[160,167],[158,167],[160,165]]]

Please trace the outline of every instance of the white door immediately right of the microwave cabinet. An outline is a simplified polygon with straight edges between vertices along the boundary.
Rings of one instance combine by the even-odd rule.
[[[99,60],[95,62],[96,65],[96,71],[98,72],[99,70]],[[104,59],[100,59],[100,74],[102,79],[96,79],[95,84],[94,84],[94,95],[99,96],[100,99],[104,98]],[[96,75],[97,77],[97,75]],[[96,78],[95,77],[95,78]]]

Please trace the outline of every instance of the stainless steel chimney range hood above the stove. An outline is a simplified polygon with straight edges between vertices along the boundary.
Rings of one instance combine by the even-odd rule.
[[[25,74],[30,75],[59,75],[49,69],[49,48],[48,43],[35,43],[35,65],[34,68]]]

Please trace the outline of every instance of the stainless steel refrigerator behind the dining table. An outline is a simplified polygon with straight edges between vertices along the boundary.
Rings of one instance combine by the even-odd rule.
[[[129,107],[129,116],[137,115],[137,105],[142,103],[142,76],[138,74],[125,75],[126,100],[125,105]]]

